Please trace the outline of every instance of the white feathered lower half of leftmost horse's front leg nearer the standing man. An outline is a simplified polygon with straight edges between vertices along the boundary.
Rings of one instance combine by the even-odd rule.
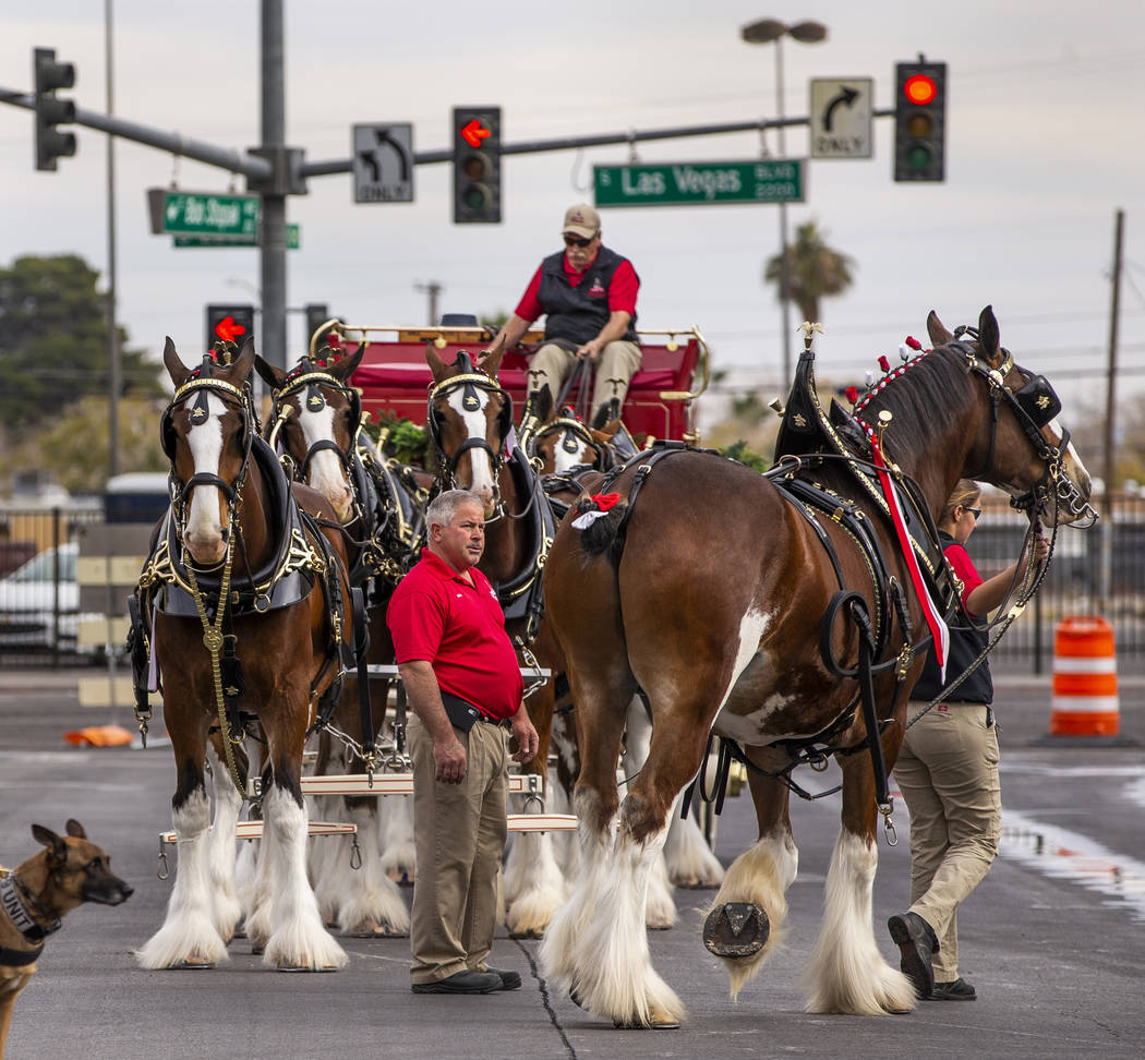
[[[262,800],[262,839],[267,870],[274,880],[274,924],[263,964],[271,967],[338,968],[347,958],[322,926],[318,903],[306,878],[306,808],[277,785]]]

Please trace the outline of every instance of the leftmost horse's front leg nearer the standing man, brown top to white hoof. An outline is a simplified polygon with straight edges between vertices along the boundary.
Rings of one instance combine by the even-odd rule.
[[[274,780],[262,800],[266,875],[260,864],[260,879],[271,887],[263,963],[317,972],[341,967],[348,958],[323,926],[306,875],[308,822],[300,781],[308,718],[306,689],[286,681],[262,709]]]

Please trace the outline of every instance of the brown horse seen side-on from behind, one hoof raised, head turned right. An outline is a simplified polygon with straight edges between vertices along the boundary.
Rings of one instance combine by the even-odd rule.
[[[856,468],[877,462],[885,445],[895,496],[907,498],[914,481],[924,528],[933,525],[960,477],[1001,487],[1047,524],[1090,511],[1089,476],[1068,435],[1050,419],[1052,410],[1037,411],[1041,398],[1033,416],[1026,401],[1035,385],[1043,394],[1052,390],[1001,347],[993,311],[985,309],[977,331],[968,330],[973,341],[956,340],[933,314],[927,326],[935,349],[891,373],[856,409],[855,433],[878,442],[866,450],[869,457],[816,454],[787,465],[788,477],[837,499],[834,516],[793,500],[781,488],[782,475],[680,450],[658,460],[641,454],[606,485],[621,495],[619,504],[583,530],[572,525],[575,508],[558,531],[545,570],[546,618],[577,704],[582,868],[542,959],[552,981],[617,1026],[673,1026],[684,1017],[649,960],[645,887],[672,801],[700,768],[712,729],[737,741],[750,761],[759,826],[756,845],[729,868],[705,925],[705,942],[727,965],[733,995],[769,956],[783,924],[784,892],[798,865],[789,773],[796,749],[814,746],[826,733],[826,753],[838,756],[843,773],[842,828],[808,967],[807,1007],[874,1015],[916,1003],[910,982],[875,943],[871,893],[882,808],[876,749],[889,770],[927,623],[890,499],[878,492],[877,477]],[[869,426],[875,424],[885,427],[881,440]],[[875,544],[863,548],[868,532]],[[882,577],[875,553],[884,557]],[[844,590],[856,603],[851,614],[871,616],[878,648],[870,670],[872,726],[856,709],[861,681],[852,677],[860,673],[863,631],[842,608],[831,609]],[[834,620],[823,630],[826,615]],[[652,747],[622,802],[616,760],[638,689],[650,705]],[[868,739],[871,728],[875,738]],[[854,749],[859,753],[845,753]]]

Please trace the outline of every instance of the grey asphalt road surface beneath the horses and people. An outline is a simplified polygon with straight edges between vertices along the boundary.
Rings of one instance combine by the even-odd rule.
[[[1003,853],[960,913],[962,972],[979,999],[927,1002],[910,1015],[803,1012],[799,978],[819,930],[838,830],[831,797],[792,807],[799,876],[784,948],[739,1003],[700,942],[712,892],[678,891],[679,926],[652,935],[661,974],[689,1010],[677,1031],[621,1031],[551,997],[537,943],[498,941],[495,962],[524,987],[474,998],[413,996],[404,940],[344,940],[348,968],[282,974],[231,946],[224,967],[143,972],[132,949],[163,919],[171,881],[156,878],[169,828],[167,747],[77,749],[71,728],[126,717],[79,707],[74,673],[0,674],[0,862],[38,849],[32,822],[79,818],[136,889],[118,908],[82,907],[48,941],[16,1004],[8,1060],[374,1057],[1143,1057],[1145,1055],[1145,682],[1122,680],[1119,746],[1048,739],[1049,679],[998,678]],[[804,770],[807,773],[807,770]],[[800,782],[830,786],[831,776]],[[909,818],[881,844],[876,939],[897,963],[887,916],[907,905]],[[749,800],[729,799],[717,853],[755,838]],[[322,840],[315,840],[322,841]]]

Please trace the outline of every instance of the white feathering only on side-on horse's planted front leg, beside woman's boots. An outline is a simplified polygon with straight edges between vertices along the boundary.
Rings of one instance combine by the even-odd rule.
[[[883,959],[871,925],[878,849],[843,830],[827,872],[823,920],[804,976],[808,1012],[885,1015],[909,1012],[910,981]]]

